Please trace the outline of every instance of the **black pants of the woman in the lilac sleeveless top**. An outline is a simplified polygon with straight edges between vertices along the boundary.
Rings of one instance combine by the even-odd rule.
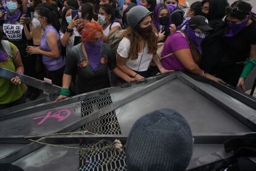
[[[62,86],[62,76],[65,66],[58,70],[46,70],[47,77],[51,79],[53,85]]]

